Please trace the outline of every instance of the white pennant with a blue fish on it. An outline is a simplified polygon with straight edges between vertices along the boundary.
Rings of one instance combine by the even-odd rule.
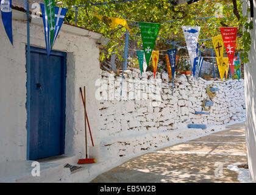
[[[200,34],[200,26],[182,26],[185,40],[188,48],[188,55],[190,55],[191,68],[193,69],[194,59],[197,57],[197,41]]]

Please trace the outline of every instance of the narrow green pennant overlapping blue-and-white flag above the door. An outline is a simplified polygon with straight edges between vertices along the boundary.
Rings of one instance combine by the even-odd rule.
[[[47,16],[47,21],[49,24],[49,31],[50,31],[50,37],[51,42],[50,45],[52,47],[52,43],[54,40],[54,27],[55,27],[55,11],[54,11],[54,0],[44,0],[44,10]]]

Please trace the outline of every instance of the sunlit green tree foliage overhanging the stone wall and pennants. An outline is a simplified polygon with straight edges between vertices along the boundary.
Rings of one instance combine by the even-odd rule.
[[[107,4],[91,5],[90,2],[108,2]],[[77,5],[78,16],[77,25],[87,29],[94,30],[110,38],[107,54],[102,53],[101,60],[109,57],[110,54],[116,53],[119,59],[122,59],[124,50],[124,37],[126,29],[122,26],[116,29],[110,29],[102,21],[93,16],[94,14],[113,16],[127,19],[130,24],[130,39],[137,41],[138,49],[142,49],[140,28],[136,21],[151,23],[161,23],[163,21],[174,21],[172,23],[162,23],[157,38],[155,50],[171,49],[172,45],[166,41],[180,41],[181,46],[186,46],[185,38],[181,29],[182,25],[201,26],[199,40],[210,39],[220,34],[218,27],[237,26],[238,39],[236,51],[241,52],[247,62],[248,52],[251,47],[251,36],[249,29],[252,29],[252,23],[247,23],[247,16],[243,16],[241,1],[236,0],[201,0],[193,4],[182,4],[173,6],[168,0],[138,0],[131,2],[118,3],[112,0],[57,0],[59,6],[68,7],[71,10]],[[79,6],[83,5],[83,6]],[[221,13],[222,12],[222,13]],[[219,15],[218,18],[194,19],[207,16]],[[223,15],[223,17],[221,17]],[[74,24],[75,12],[69,11],[66,16],[68,23]],[[177,21],[176,21],[177,20]],[[243,33],[243,26],[245,32]],[[212,41],[199,41],[201,49],[212,48]],[[133,48],[135,49],[135,48]],[[181,50],[180,50],[181,52]],[[187,51],[183,51],[184,53]]]

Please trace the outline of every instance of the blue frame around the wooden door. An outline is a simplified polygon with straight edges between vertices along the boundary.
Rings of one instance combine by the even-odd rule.
[[[34,46],[30,46],[30,52],[37,52],[39,54],[46,54],[46,49],[43,48],[36,48]],[[61,113],[61,123],[62,129],[60,130],[60,154],[65,153],[65,124],[66,124],[66,52],[61,51],[51,51],[51,55],[63,57],[63,69],[62,69],[62,113]],[[26,45],[26,57],[27,57],[27,45]],[[27,59],[26,59],[27,60]],[[31,65],[31,63],[30,63]],[[26,82],[26,89],[27,89],[27,102],[26,102],[26,110],[27,110],[27,122],[26,122],[26,129],[27,129],[27,160],[29,159],[29,135],[30,135],[30,67],[27,67],[26,62],[26,73],[27,73],[27,82]]]

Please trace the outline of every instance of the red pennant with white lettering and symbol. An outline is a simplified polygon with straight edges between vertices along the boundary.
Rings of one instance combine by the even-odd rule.
[[[227,51],[227,57],[229,57],[229,67],[231,70],[231,74],[234,73],[234,65],[233,60],[235,56],[235,46],[236,46],[236,27],[220,27],[222,39],[224,42],[224,46]]]

